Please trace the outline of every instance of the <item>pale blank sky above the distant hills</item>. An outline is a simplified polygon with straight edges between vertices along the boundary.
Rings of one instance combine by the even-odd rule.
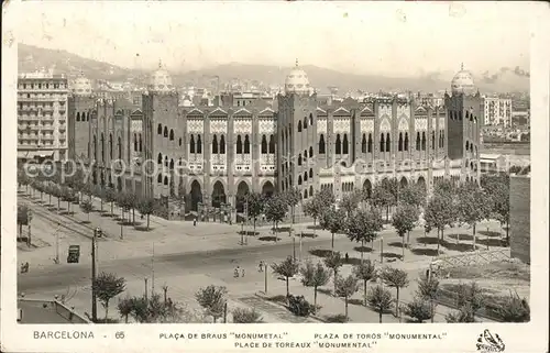
[[[16,4],[18,42],[123,67],[316,65],[414,77],[529,70],[534,3],[37,2]]]

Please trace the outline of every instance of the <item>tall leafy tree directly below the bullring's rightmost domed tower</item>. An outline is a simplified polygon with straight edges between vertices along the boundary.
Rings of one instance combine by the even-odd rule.
[[[461,222],[472,225],[473,250],[475,251],[475,225],[490,217],[491,198],[475,183],[465,184],[459,194]]]

